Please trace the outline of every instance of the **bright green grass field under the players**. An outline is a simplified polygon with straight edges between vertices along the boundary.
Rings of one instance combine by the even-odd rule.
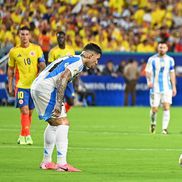
[[[80,173],[39,169],[46,124],[34,113],[34,145],[19,146],[19,111],[0,107],[0,182],[182,181],[181,108],[171,109],[170,134],[149,133],[149,108],[75,107],[69,112],[68,161]],[[56,153],[54,153],[54,160]]]

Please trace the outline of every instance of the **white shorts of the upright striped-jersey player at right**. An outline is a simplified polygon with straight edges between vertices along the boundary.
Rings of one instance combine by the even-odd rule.
[[[167,94],[153,93],[150,94],[150,106],[159,107],[160,104],[169,103],[172,104],[172,92]]]

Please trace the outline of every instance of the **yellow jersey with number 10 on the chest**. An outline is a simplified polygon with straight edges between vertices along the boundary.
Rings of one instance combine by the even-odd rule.
[[[45,62],[40,46],[30,43],[27,48],[20,45],[9,52],[8,66],[15,68],[16,87],[30,89],[38,74],[38,63]]]

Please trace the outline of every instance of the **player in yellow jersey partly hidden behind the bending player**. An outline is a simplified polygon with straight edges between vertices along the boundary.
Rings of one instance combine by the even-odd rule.
[[[71,46],[66,45],[66,34],[63,31],[57,32],[57,42],[58,45],[53,47],[49,52],[48,63],[53,62],[59,57],[64,56],[73,56],[75,55],[75,51]],[[73,83],[68,83],[65,90],[65,108],[66,112],[74,105],[74,88]]]

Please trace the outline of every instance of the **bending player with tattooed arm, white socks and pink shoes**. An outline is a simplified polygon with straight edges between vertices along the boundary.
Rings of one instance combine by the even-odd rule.
[[[81,55],[59,58],[40,73],[31,86],[31,95],[39,118],[48,122],[44,132],[44,157],[42,169],[58,171],[80,171],[66,160],[68,148],[69,121],[63,104],[67,84],[83,67],[95,68],[102,51],[94,43],[87,44]],[[57,164],[52,162],[54,146],[57,148]]]

